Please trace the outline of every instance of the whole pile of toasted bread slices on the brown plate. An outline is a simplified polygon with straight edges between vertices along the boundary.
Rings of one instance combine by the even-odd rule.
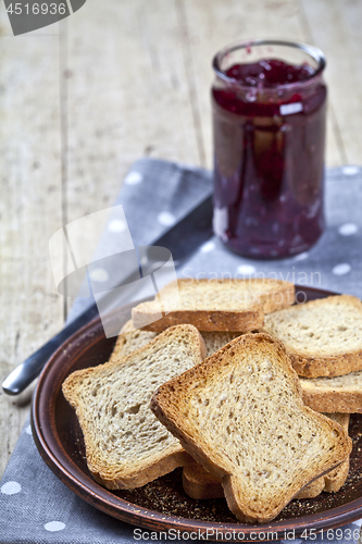
[[[63,384],[93,478],[134,489],[184,467],[189,496],[225,496],[247,522],[338,491],[349,415],[362,412],[362,302],[294,305],[294,285],[275,280],[177,292],[134,308],[110,360]]]

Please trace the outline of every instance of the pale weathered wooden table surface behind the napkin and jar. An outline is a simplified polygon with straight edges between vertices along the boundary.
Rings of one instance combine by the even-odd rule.
[[[211,168],[211,59],[253,37],[327,58],[328,166],[362,162],[360,0],[87,0],[14,37],[0,3],[0,380],[64,322],[48,242],[112,205],[142,156]],[[0,475],[33,387],[0,392]]]

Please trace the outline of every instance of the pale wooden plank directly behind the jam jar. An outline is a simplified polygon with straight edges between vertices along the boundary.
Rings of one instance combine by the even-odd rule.
[[[207,150],[207,165],[212,168],[210,86],[213,79],[211,69],[213,55],[228,44],[245,39],[274,37],[308,42],[311,41],[312,36],[297,0],[177,1],[184,5],[186,12],[187,33],[196,79],[195,88],[198,94],[197,102],[200,107],[202,137]],[[333,126],[333,119],[329,115],[327,122],[327,165],[339,164],[342,161],[339,141],[336,139]]]

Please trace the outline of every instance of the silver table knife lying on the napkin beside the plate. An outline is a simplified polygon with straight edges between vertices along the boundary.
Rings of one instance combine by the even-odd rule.
[[[175,268],[177,269],[183,261],[189,258],[198,247],[200,247],[201,244],[210,238],[212,233],[212,195],[209,195],[175,225],[162,234],[162,236],[154,239],[150,246],[161,246],[168,249],[172,254]],[[157,262],[143,262],[143,274],[150,274],[152,271],[157,270]],[[137,272],[138,271],[134,271],[134,273],[128,274],[122,282],[123,284],[129,282],[129,296],[134,295],[132,281],[136,277]],[[126,301],[127,299],[124,298],[122,304]],[[117,304],[120,304],[118,299]],[[112,308],[110,308],[110,310]],[[4,393],[8,395],[18,395],[22,393],[22,391],[39,375],[46,362],[63,342],[70,338],[78,329],[96,319],[98,314],[98,307],[93,304],[74,321],[64,326],[64,329],[48,341],[47,344],[18,364],[3,381],[2,388]]]

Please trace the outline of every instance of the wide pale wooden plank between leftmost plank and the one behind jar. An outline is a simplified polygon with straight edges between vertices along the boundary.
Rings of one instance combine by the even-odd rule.
[[[112,205],[142,156],[200,164],[167,0],[88,0],[67,20],[67,219]]]

